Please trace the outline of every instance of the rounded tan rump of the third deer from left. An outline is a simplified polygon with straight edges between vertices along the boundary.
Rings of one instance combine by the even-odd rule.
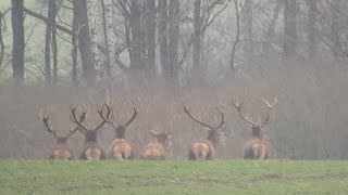
[[[133,150],[124,139],[115,139],[108,150],[108,159],[132,159]]]

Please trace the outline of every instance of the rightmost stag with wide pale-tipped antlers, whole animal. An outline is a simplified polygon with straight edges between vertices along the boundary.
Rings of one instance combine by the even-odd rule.
[[[245,121],[247,121],[251,126],[251,139],[247,140],[244,146],[244,158],[245,159],[268,159],[270,157],[270,143],[263,138],[263,127],[271,121],[271,112],[273,106],[277,103],[276,98],[274,98],[274,103],[270,104],[266,100],[264,99],[259,99],[261,100],[265,106],[269,108],[269,113],[266,114],[266,117],[263,121],[261,121],[259,117],[259,121],[254,122],[252,119],[249,117],[245,116],[241,113],[241,106],[243,106],[243,101],[237,102],[234,100],[234,106],[238,110],[238,114],[240,118]]]

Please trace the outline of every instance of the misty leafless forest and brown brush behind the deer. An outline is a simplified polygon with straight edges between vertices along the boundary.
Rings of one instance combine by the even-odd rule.
[[[135,156],[171,131],[169,159],[225,113],[217,159],[243,158],[251,129],[244,113],[265,117],[256,96],[278,103],[265,135],[273,157],[348,158],[348,1],[345,0],[5,0],[0,3],[0,158],[48,158],[55,142],[39,110],[51,107],[59,134],[73,127],[72,105],[99,120],[107,98],[114,119],[138,116],[126,131]],[[98,142],[107,150],[114,131]],[[69,141],[74,154],[84,136]]]

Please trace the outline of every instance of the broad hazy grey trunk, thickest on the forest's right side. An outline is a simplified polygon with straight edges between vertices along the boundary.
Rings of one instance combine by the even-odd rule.
[[[284,55],[286,60],[297,56],[297,0],[285,0],[284,10]]]

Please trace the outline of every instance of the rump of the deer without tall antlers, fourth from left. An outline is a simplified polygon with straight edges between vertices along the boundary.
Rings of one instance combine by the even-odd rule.
[[[140,158],[149,159],[149,160],[164,160],[165,159],[164,146],[160,143],[149,143],[144,147]]]

